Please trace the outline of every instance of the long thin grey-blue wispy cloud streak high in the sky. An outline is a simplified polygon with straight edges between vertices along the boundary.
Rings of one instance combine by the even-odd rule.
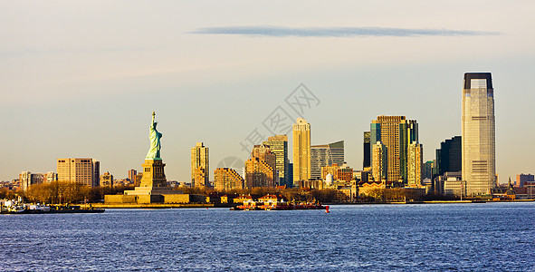
[[[355,36],[478,36],[498,35],[498,32],[391,28],[391,27],[283,27],[283,26],[223,26],[198,28],[192,34],[229,34],[274,37],[355,37]]]

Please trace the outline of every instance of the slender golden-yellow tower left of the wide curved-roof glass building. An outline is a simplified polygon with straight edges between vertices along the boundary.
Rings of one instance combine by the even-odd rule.
[[[298,118],[293,124],[293,187],[310,180],[310,123]]]

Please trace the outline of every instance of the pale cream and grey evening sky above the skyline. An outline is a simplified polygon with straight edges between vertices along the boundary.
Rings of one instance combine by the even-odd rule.
[[[241,144],[270,136],[264,123],[277,112],[309,121],[312,144],[345,141],[356,170],[369,123],[404,115],[434,160],[441,141],[461,135],[469,72],[492,73],[499,181],[514,180],[535,172],[533,10],[532,1],[2,1],[0,180],[55,171],[58,158],[94,158],[124,179],[141,170],[153,111],[167,180],[190,180],[197,141],[211,179],[222,161],[246,160]],[[286,101],[302,92],[315,100],[295,112]]]

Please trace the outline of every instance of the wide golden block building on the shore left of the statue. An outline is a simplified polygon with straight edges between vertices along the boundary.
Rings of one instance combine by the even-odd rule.
[[[100,161],[91,158],[57,160],[59,181],[77,182],[89,187],[100,184]]]

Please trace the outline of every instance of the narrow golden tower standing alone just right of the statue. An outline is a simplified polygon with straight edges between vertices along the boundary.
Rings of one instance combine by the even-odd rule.
[[[195,187],[209,186],[210,169],[208,164],[208,148],[203,142],[197,142],[191,148],[191,184]]]

